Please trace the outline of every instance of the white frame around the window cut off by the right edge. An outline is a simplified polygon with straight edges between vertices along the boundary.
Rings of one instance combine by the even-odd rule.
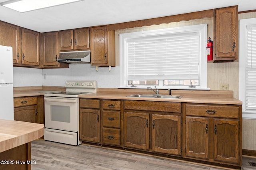
[[[246,109],[246,26],[253,24],[256,24],[256,18],[239,20],[239,100],[245,119],[256,119],[256,110]]]

